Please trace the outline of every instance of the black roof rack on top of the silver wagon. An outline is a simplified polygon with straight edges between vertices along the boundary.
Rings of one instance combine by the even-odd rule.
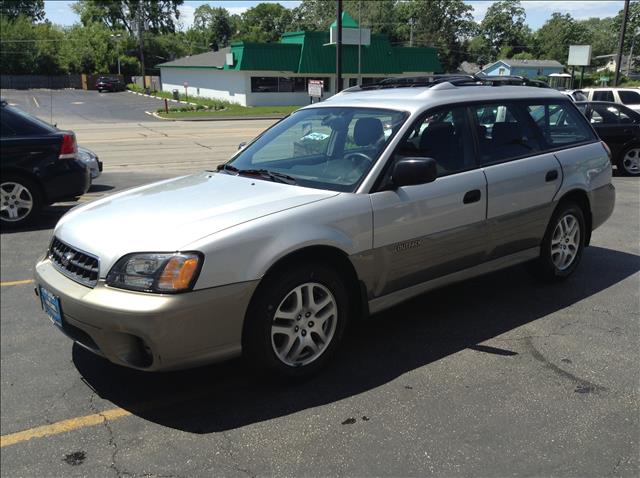
[[[343,92],[356,92],[368,90],[380,90],[387,88],[414,88],[431,87],[442,83],[450,83],[454,86],[536,86],[539,88],[549,88],[549,85],[540,80],[530,80],[523,76],[489,76],[489,75],[465,75],[465,74],[444,74],[428,76],[408,76],[392,77],[371,85],[354,86],[343,90]]]

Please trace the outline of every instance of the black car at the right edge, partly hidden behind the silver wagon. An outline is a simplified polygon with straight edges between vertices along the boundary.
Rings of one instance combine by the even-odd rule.
[[[606,101],[576,102],[576,106],[611,149],[618,173],[640,175],[640,113]]]

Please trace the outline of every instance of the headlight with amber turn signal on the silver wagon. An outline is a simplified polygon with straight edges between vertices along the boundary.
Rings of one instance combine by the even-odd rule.
[[[111,268],[107,284],[143,292],[184,292],[193,287],[201,266],[198,252],[128,254]]]

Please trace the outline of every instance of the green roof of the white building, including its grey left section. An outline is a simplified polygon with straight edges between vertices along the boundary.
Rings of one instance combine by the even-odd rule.
[[[225,64],[218,68],[299,74],[332,74],[336,71],[336,46],[329,45],[328,32],[288,32],[282,35],[279,43],[234,42],[231,53],[233,65]],[[165,65],[211,68],[210,60],[207,55],[194,55],[189,61],[176,60]],[[345,74],[358,73],[358,45],[342,46],[342,71]],[[361,46],[360,71],[380,76],[405,72],[439,73],[442,66],[434,48],[393,47],[387,35],[372,34],[371,44]]]

